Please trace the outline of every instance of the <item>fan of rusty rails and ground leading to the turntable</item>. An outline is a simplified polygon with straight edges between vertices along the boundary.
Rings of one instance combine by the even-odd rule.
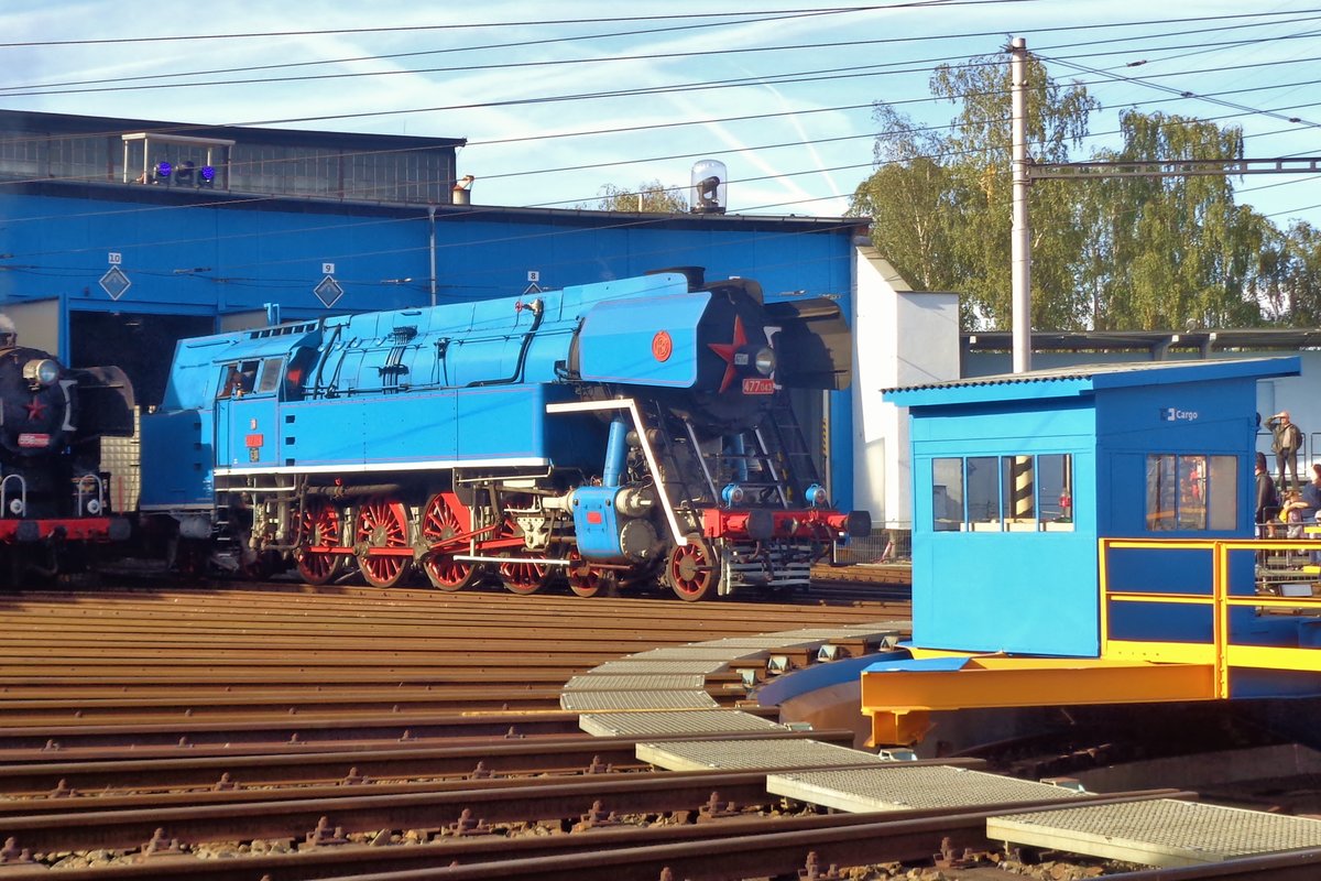
[[[905,616],[875,598],[296,585],[0,598],[0,876],[824,880],[844,877],[831,864],[995,851],[987,816],[1046,804],[822,814],[770,795],[766,769],[660,770],[637,737],[590,737],[560,709],[571,679],[646,650]],[[705,675],[705,693],[777,719],[754,703],[779,670],[768,660]],[[734,753],[749,737],[683,734]],[[848,746],[856,732],[756,737]]]

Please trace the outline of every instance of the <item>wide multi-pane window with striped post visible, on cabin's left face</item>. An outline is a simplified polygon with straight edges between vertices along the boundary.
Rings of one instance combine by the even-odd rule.
[[[972,456],[931,461],[937,532],[1071,532],[1073,456]]]

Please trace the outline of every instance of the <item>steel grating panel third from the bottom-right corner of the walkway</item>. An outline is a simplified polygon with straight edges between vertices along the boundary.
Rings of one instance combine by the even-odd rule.
[[[667,771],[738,770],[762,767],[839,767],[890,763],[876,753],[814,740],[667,741],[638,744],[637,756]]]

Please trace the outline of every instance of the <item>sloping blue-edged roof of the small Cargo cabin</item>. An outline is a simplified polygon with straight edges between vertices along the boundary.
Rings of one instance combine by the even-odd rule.
[[[1284,358],[1240,358],[1217,361],[1160,361],[1119,365],[1074,365],[1022,374],[976,376],[941,383],[882,390],[885,400],[901,407],[1079,398],[1108,388],[1169,386],[1223,379],[1267,379],[1297,376],[1303,372],[1297,355]]]

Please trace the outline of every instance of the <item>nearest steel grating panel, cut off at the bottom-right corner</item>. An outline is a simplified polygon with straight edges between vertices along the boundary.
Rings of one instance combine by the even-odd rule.
[[[987,837],[1173,868],[1321,847],[1321,820],[1157,799],[992,816]]]

